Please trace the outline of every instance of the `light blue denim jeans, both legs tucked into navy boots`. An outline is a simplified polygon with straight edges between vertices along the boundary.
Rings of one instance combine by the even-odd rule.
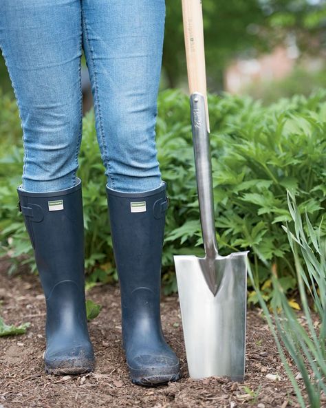
[[[82,48],[108,186],[160,186],[155,122],[164,18],[164,0],[0,0],[0,47],[23,128],[23,190],[76,182]]]

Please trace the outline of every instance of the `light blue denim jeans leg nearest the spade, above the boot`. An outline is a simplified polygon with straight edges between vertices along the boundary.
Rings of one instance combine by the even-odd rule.
[[[82,0],[83,46],[108,186],[160,186],[155,144],[164,0]]]

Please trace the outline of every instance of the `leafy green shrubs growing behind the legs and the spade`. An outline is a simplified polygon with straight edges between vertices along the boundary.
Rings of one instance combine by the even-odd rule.
[[[209,107],[219,249],[222,255],[249,249],[255,282],[270,299],[272,270],[285,291],[296,287],[294,256],[281,227],[291,219],[286,189],[296,194],[299,211],[307,208],[313,224],[325,212],[326,91],[283,99],[270,107],[251,98],[210,95]],[[173,255],[203,254],[188,96],[177,90],[160,93],[158,115],[158,160],[170,203],[163,280],[165,292],[171,292],[176,290]],[[78,176],[83,180],[86,266],[91,282],[108,281],[116,275],[92,113],[83,129]],[[14,263],[25,254],[32,264],[16,208],[22,157],[22,148],[13,147],[0,160],[1,243]],[[320,233],[326,233],[325,221]],[[249,300],[258,301],[253,290]]]

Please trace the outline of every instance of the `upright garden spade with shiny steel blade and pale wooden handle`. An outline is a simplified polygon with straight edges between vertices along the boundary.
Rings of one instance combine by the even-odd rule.
[[[205,256],[175,255],[192,378],[243,380],[248,252],[219,255],[215,234],[201,0],[182,0],[191,123]]]

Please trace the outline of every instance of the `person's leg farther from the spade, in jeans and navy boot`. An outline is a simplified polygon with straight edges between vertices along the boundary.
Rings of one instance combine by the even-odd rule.
[[[47,306],[45,370],[94,367],[85,310],[79,0],[2,0],[0,47],[12,79],[25,147],[19,209]]]

